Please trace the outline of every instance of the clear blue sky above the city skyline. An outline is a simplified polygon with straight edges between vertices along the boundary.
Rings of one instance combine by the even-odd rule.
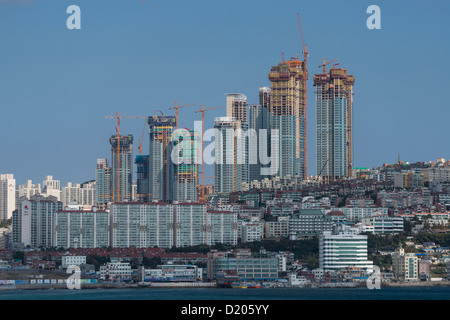
[[[69,30],[69,5],[81,8],[81,30]],[[381,8],[381,30],[369,30],[369,5]],[[200,120],[200,104],[223,106],[225,93],[270,85],[271,66],[301,53],[300,12],[310,52],[308,174],[315,168],[312,77],[322,59],[338,59],[356,78],[354,165],[450,158],[447,87],[448,0],[0,0],[0,173],[17,183],[95,178],[110,159],[116,111],[166,114],[175,101],[180,124]],[[123,120],[135,141],[143,120]],[[144,140],[148,150],[148,137]],[[137,152],[137,143],[135,150]],[[211,171],[211,168],[209,168]],[[212,171],[211,171],[212,172]]]

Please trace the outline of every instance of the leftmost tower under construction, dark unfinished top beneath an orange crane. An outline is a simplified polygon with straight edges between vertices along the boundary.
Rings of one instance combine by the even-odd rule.
[[[111,195],[113,202],[131,201],[133,136],[111,136]]]

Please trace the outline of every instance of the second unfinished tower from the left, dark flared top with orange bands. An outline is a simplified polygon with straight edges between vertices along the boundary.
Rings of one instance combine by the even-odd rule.
[[[151,199],[170,201],[172,198],[171,147],[176,130],[175,116],[152,116],[148,119],[150,134],[149,189]]]

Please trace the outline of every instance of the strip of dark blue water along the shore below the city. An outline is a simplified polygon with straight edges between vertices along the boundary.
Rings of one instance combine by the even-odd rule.
[[[8,290],[0,300],[449,300],[450,287]]]

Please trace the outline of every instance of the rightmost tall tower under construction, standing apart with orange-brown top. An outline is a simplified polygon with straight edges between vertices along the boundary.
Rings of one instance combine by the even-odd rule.
[[[332,68],[314,77],[317,117],[317,175],[324,182],[352,176],[353,85],[347,70]]]

